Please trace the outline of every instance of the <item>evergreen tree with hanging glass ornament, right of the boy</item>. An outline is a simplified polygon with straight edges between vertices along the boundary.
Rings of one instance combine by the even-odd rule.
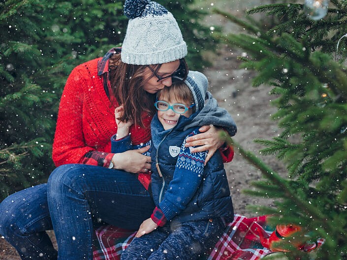
[[[265,176],[254,183],[257,190],[248,193],[276,201],[275,207],[256,206],[256,211],[274,214],[274,224],[303,227],[295,234],[305,235],[301,239],[325,238],[316,259],[347,259],[347,1],[331,0],[328,14],[317,21],[304,10],[299,3],[248,10],[249,15],[275,17],[270,28],[252,17],[242,20],[216,10],[247,30],[219,37],[247,52],[247,57],[240,57],[241,66],[257,72],[252,85],[272,87],[277,107],[273,119],[282,133],[255,142],[265,146],[263,154],[283,160],[287,173],[275,173],[234,145]],[[287,256],[312,258],[293,248]]]

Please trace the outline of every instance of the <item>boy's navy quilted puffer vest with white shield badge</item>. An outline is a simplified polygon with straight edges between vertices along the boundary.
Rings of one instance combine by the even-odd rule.
[[[180,118],[182,119],[182,118]],[[152,157],[152,193],[156,205],[164,198],[169,183],[173,178],[178,156],[177,153],[185,138],[196,128],[183,130],[187,120],[179,120],[171,132],[169,132],[156,149],[154,143],[151,144]],[[170,153],[171,149],[171,153]],[[175,151],[176,150],[176,151]],[[159,176],[156,167],[156,160],[162,177]],[[224,170],[221,153],[218,150],[207,165],[204,167],[203,180],[194,197],[188,202],[186,208],[178,214],[172,221],[184,222],[191,220],[206,220],[216,217],[224,217],[225,221],[231,222],[234,218],[233,205],[230,197],[228,180]],[[189,179],[182,183],[180,189],[189,189]],[[177,198],[180,198],[179,190]]]

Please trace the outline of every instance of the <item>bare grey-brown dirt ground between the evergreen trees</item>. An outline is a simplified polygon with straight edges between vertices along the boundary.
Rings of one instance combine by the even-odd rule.
[[[231,11],[239,12],[239,7],[236,6]],[[206,21],[209,22],[209,19]],[[229,24],[226,26],[229,31],[233,30]],[[240,55],[242,53],[237,49],[221,46],[218,55],[212,57],[214,64],[204,71],[209,79],[209,90],[219,101],[219,105],[233,116],[237,124],[238,132],[233,140],[241,144],[244,149],[255,153],[273,170],[284,173],[283,165],[276,158],[263,157],[258,152],[262,147],[253,143],[256,138],[270,139],[279,134],[276,122],[270,119],[270,116],[276,112],[276,108],[270,105],[271,97],[268,94],[270,88],[264,86],[253,88],[251,80],[254,72],[238,68],[239,61],[236,58]],[[255,216],[256,212],[248,210],[247,205],[271,205],[271,201],[267,199],[250,197],[242,193],[244,189],[252,189],[250,183],[261,179],[261,173],[237,150],[235,150],[233,161],[225,164],[225,169],[235,213]],[[20,260],[14,248],[3,237],[0,237],[0,260]]]

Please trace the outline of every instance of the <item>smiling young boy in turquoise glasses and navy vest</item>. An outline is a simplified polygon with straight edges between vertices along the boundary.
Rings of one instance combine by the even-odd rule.
[[[236,133],[231,116],[218,107],[207,87],[202,73],[189,71],[185,82],[173,82],[157,94],[158,113],[151,123],[150,149],[151,190],[156,208],[122,253],[122,260],[197,259],[213,248],[225,223],[233,220],[220,152],[204,166],[207,151],[191,153],[185,147],[186,138],[197,134],[201,125],[223,126],[230,136]],[[116,111],[116,118],[118,113],[122,111]],[[120,149],[130,147],[124,141],[131,123],[117,124],[113,152],[118,144]],[[115,140],[120,138],[123,139]]]

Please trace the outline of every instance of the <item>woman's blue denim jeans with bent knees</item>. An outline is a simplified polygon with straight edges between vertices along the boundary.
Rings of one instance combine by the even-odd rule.
[[[155,205],[137,174],[69,164],[54,170],[47,184],[0,203],[0,234],[22,260],[56,260],[46,230],[54,230],[59,260],[92,260],[94,226],[106,222],[137,230]]]

